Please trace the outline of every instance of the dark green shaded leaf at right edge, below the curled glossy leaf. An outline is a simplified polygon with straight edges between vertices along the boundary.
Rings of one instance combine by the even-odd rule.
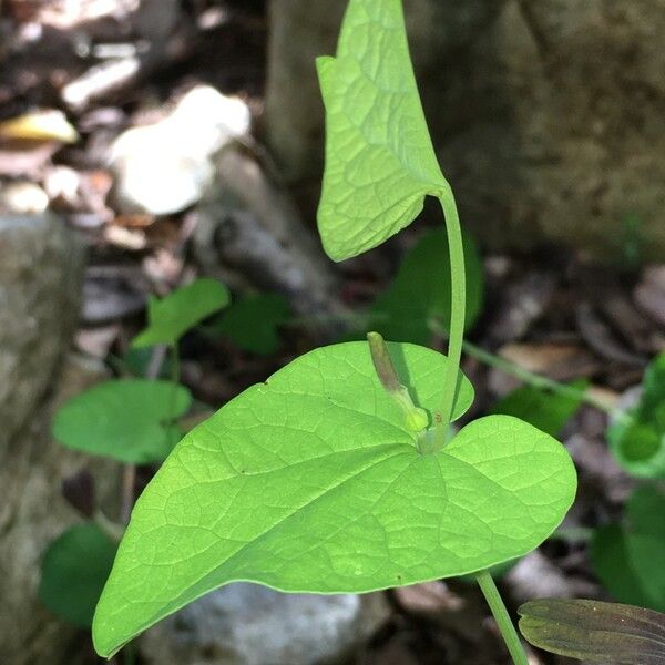
[[[617,600],[665,612],[665,494],[656,487],[633,492],[622,524],[598,529],[591,562]]]

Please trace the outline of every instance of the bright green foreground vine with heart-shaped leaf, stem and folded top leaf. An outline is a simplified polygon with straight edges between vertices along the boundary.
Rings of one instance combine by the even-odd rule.
[[[193,430],[140,498],[93,624],[110,656],[232,581],[369,592],[474,572],[515,663],[526,657],[487,569],[536,548],[576,487],[565,449],[508,416],[450,423],[473,390],[459,369],[463,241],[410,64],[401,2],[351,0],[327,112],[319,231],[349,258],[412,222],[431,195],[448,236],[448,357],[411,344],[316,349]],[[441,274],[441,279],[448,279]]]

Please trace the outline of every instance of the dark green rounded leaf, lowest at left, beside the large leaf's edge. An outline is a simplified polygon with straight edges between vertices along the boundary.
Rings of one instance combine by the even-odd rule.
[[[95,524],[78,524],[44,553],[38,596],[53,614],[89,628],[117,543]]]

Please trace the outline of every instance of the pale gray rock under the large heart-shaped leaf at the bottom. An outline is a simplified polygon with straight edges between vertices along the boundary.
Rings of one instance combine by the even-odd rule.
[[[154,665],[310,665],[348,654],[387,616],[380,594],[283,594],[235,583],[149,631],[141,653]]]

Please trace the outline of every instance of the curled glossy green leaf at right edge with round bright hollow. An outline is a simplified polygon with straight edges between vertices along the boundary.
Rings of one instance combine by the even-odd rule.
[[[616,461],[638,478],[665,478],[665,352],[644,374],[640,403],[607,429]]]

